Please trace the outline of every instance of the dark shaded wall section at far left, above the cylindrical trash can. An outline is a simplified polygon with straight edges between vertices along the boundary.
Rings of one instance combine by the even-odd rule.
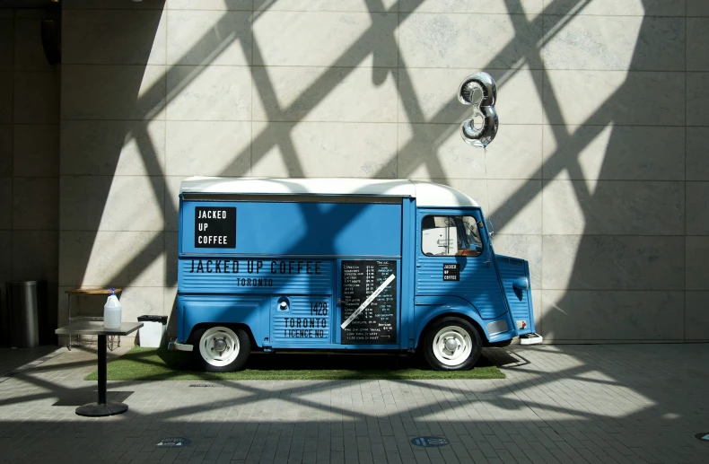
[[[50,18],[43,10],[0,10],[0,283],[47,281],[56,321],[59,71],[39,35]]]

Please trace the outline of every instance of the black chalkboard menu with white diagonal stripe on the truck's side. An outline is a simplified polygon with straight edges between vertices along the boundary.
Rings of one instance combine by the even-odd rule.
[[[342,261],[343,345],[397,342],[396,274],[394,260]]]

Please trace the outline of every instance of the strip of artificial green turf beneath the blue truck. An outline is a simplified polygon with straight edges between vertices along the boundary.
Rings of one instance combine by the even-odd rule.
[[[485,356],[469,371],[433,371],[417,356],[251,355],[238,372],[198,372],[191,353],[134,347],[109,363],[109,381],[342,381],[504,379]],[[342,369],[345,367],[347,369]],[[96,381],[98,372],[84,380]]]

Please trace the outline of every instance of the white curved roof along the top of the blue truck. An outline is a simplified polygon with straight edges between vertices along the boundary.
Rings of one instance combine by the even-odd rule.
[[[478,206],[466,194],[441,184],[411,179],[190,177],[180,193],[241,195],[362,195],[415,197],[416,206]]]

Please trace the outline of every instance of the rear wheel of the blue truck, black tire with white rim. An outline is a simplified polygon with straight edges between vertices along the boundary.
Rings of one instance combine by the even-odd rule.
[[[224,342],[221,352],[218,340]],[[197,328],[192,333],[192,346],[197,368],[207,372],[238,371],[251,353],[249,335],[243,329],[218,325]]]

